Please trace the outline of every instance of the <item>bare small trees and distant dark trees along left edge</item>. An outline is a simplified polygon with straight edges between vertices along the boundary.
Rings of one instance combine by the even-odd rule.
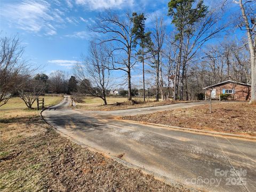
[[[0,38],[0,107],[13,97],[20,97],[28,108],[46,92],[70,93],[76,91],[74,76],[67,80],[62,71],[49,76],[35,74],[37,67],[22,59],[24,47],[17,36]]]

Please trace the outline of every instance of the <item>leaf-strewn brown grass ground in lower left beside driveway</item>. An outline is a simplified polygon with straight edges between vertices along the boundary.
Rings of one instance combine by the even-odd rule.
[[[2,119],[0,140],[1,191],[196,191],[82,148],[39,114]]]

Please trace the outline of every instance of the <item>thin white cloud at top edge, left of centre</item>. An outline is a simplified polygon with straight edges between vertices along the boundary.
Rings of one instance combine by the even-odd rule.
[[[134,0],[76,0],[76,4],[83,5],[90,10],[121,9],[123,6],[132,6]]]

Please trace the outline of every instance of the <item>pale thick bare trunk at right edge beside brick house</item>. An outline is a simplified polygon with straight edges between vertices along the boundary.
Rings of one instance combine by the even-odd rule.
[[[238,3],[238,2],[236,2]],[[246,4],[252,3],[252,7],[247,6]],[[251,81],[252,81],[252,90],[251,90],[251,101],[250,103],[256,103],[256,15],[255,15],[255,2],[239,0],[239,6],[242,11],[243,22],[239,25],[242,30],[246,30],[248,45],[250,50],[250,59],[251,59]],[[249,11],[250,10],[250,11]],[[249,17],[250,22],[249,22]]]

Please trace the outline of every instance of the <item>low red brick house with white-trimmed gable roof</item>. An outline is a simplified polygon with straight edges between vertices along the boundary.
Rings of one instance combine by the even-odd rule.
[[[251,99],[251,85],[235,81],[225,81],[203,88],[205,90],[205,100],[210,98],[219,99],[220,94],[230,94],[229,100],[247,101]]]

